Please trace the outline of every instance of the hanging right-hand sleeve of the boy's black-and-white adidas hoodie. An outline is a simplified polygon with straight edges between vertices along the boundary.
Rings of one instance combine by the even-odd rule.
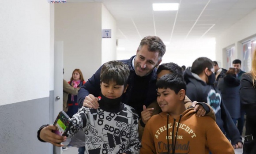
[[[128,147],[128,150],[124,151],[124,154],[139,154],[141,144],[139,140],[138,123],[139,123],[139,116],[136,118],[136,120],[134,120],[132,124],[130,147]]]

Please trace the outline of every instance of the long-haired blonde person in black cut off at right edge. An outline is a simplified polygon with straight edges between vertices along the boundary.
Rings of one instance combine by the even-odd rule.
[[[242,75],[240,98],[246,113],[243,154],[256,154],[256,53],[252,58],[252,71]]]

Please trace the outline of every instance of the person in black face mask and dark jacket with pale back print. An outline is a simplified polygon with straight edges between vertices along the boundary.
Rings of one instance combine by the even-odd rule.
[[[215,86],[214,63],[206,57],[197,58],[192,68],[187,68],[184,79],[187,82],[187,96],[191,101],[207,102],[215,112],[216,122],[226,132],[234,148],[242,148],[239,131],[227,111],[221,94]]]

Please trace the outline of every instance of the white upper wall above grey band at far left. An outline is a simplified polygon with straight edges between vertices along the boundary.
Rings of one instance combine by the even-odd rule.
[[[0,1],[0,105],[49,97],[49,13],[44,0]]]

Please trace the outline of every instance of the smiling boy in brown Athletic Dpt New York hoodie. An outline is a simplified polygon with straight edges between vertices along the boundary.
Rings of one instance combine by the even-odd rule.
[[[234,154],[231,143],[211,117],[197,117],[184,106],[186,82],[176,73],[157,82],[162,113],[152,116],[143,132],[140,154]]]

